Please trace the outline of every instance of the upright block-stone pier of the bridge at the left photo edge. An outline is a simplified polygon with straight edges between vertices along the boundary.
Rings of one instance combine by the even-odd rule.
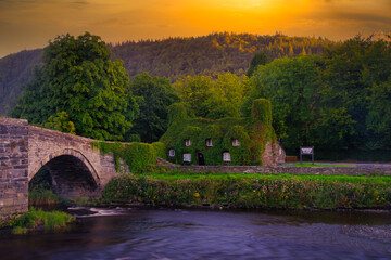
[[[27,210],[27,120],[0,117],[0,221]]]

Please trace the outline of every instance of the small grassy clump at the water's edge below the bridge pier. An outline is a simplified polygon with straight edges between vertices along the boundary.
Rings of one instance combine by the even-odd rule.
[[[13,227],[13,234],[26,234],[29,230],[43,229],[45,231],[56,231],[73,222],[74,217],[61,211],[42,211],[29,208],[28,212],[17,217],[2,227]]]

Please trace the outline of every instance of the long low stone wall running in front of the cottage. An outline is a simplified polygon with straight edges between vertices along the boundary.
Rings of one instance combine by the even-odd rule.
[[[282,166],[155,166],[184,172],[391,176],[391,167],[282,167]]]

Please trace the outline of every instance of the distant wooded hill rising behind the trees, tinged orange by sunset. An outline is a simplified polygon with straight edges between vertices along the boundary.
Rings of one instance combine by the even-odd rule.
[[[247,72],[254,53],[263,51],[269,61],[301,53],[321,53],[336,42],[323,38],[212,34],[202,37],[127,41],[111,44],[113,60],[124,61],[129,77],[143,72],[167,77],[173,82],[185,75],[214,75]],[[22,95],[42,50],[22,51],[0,58],[0,115],[7,115]]]

